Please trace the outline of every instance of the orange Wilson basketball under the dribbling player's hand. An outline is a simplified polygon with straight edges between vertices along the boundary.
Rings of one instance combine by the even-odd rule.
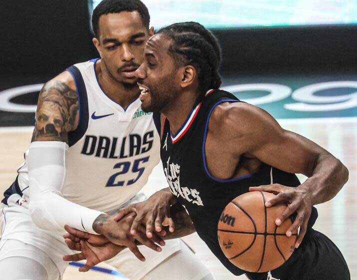
[[[286,205],[265,207],[273,193],[252,191],[237,196],[223,210],[218,222],[218,240],[225,256],[236,266],[251,272],[265,272],[282,265],[293,253],[297,231],[286,231],[290,218],[280,226],[275,219]]]

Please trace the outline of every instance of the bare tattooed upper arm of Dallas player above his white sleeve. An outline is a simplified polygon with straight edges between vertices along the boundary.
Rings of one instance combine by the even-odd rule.
[[[39,93],[32,141],[68,143],[78,115],[77,93],[64,82],[50,80]]]

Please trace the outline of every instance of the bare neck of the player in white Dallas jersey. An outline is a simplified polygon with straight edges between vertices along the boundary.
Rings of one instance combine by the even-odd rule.
[[[99,61],[98,61],[99,62]],[[136,83],[128,84],[115,80],[110,73],[101,67],[100,62],[96,63],[95,71],[98,83],[103,92],[113,101],[126,108],[135,98],[140,95],[140,89]]]

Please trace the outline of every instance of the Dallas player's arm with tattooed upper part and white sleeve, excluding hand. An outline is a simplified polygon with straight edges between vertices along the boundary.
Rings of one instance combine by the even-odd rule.
[[[35,128],[26,157],[29,178],[29,212],[33,222],[50,231],[65,224],[95,233],[94,219],[101,214],[72,203],[61,195],[65,177],[68,132],[78,124],[78,99],[74,80],[63,72],[40,91]]]

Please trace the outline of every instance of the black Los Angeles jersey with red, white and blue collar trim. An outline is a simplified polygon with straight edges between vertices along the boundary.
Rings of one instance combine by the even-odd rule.
[[[204,148],[208,120],[215,106],[222,102],[240,100],[227,91],[208,91],[203,101],[194,105],[176,135],[171,133],[166,119],[161,139],[161,160],[171,192],[187,209],[198,235],[233,274],[240,275],[245,271],[225,257],[218,243],[217,225],[221,212],[233,198],[248,192],[250,186],[271,182],[297,186],[300,182],[295,174],[264,163],[256,173],[239,178],[218,179],[209,173]],[[315,209],[310,227],[316,217]]]

